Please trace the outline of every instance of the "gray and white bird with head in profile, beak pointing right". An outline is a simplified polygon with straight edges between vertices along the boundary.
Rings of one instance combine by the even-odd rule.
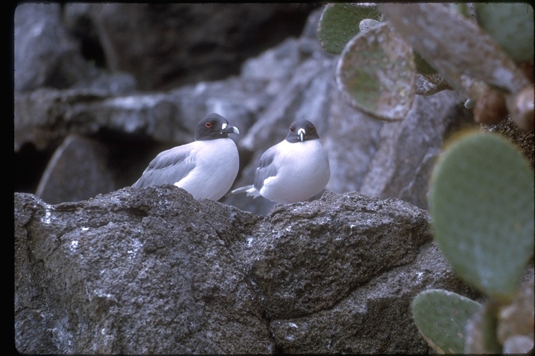
[[[222,115],[207,115],[197,124],[194,142],[160,152],[132,186],[174,184],[195,199],[221,199],[240,168],[238,148],[228,133],[240,131]]]

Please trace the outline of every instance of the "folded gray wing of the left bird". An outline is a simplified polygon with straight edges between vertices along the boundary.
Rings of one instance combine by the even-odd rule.
[[[160,152],[132,186],[158,186],[175,184],[183,179],[195,167],[194,160],[186,160],[190,154],[189,147],[178,146]]]

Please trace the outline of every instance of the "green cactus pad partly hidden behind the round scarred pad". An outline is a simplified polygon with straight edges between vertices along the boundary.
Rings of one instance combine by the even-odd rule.
[[[325,51],[341,54],[346,43],[359,33],[362,19],[379,20],[374,7],[359,7],[350,3],[329,3],[323,9],[318,24],[318,40]]]

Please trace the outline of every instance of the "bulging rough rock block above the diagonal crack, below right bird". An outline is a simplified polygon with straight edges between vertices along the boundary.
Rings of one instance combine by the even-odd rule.
[[[247,261],[271,318],[329,309],[382,270],[410,264],[432,240],[426,211],[359,193],[279,204],[266,220]]]

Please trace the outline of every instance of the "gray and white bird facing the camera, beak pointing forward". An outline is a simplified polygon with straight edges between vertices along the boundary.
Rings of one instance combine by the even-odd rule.
[[[329,158],[316,127],[309,120],[290,124],[286,138],[267,149],[258,162],[254,184],[231,191],[231,195],[262,195],[277,203],[308,200],[329,182]]]

